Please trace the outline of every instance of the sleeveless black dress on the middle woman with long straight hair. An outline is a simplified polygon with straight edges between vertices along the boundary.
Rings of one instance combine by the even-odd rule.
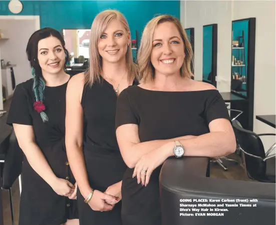
[[[136,81],[133,84],[137,84]],[[88,179],[93,189],[104,192],[122,180],[126,164],[115,133],[117,95],[105,79],[92,87],[85,85],[82,94],[84,112],[83,152]],[[121,225],[121,201],[111,211],[94,211],[78,190],[80,225]]]

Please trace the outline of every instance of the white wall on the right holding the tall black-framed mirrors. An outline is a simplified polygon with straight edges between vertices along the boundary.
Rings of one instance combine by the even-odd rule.
[[[194,27],[195,79],[202,80],[203,25],[218,24],[217,89],[230,91],[231,21],[256,17],[255,39],[255,115],[275,114],[275,1],[268,0],[188,0],[180,3],[180,20],[184,28]],[[275,129],[254,119],[254,132]],[[275,141],[265,138],[265,147]]]

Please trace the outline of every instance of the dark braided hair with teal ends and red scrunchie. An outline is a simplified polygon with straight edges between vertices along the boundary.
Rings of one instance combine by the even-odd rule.
[[[64,38],[62,37],[61,33],[56,29],[53,29],[51,27],[45,27],[35,31],[31,35],[26,48],[26,53],[28,56],[28,60],[30,61],[30,65],[32,67],[32,75],[34,79],[34,83],[32,87],[34,96],[35,96],[34,107],[36,109],[35,105],[40,104],[40,109],[39,110],[36,109],[36,110],[38,111],[38,113],[40,113],[40,116],[43,122],[48,121],[49,118],[44,111],[45,105],[43,102],[44,102],[44,90],[45,90],[46,83],[45,83],[45,79],[43,78],[42,69],[38,60],[38,42],[41,39],[44,39],[50,36],[54,36],[61,41],[62,47],[65,52],[65,64],[64,64],[64,67],[65,67],[69,59],[69,52],[65,48]]]

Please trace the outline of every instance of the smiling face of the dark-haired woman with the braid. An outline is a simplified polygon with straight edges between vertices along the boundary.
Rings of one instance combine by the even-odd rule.
[[[38,60],[43,72],[60,72],[65,63],[61,41],[54,36],[41,39],[38,43]]]

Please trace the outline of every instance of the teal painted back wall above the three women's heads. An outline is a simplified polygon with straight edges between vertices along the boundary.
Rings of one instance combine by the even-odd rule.
[[[23,0],[23,11],[18,15],[40,15],[41,28],[50,26],[90,29],[97,13],[117,9],[127,18],[130,31],[141,33],[155,14],[171,14],[180,19],[180,0]],[[14,15],[8,9],[9,1],[0,1],[0,15]]]

